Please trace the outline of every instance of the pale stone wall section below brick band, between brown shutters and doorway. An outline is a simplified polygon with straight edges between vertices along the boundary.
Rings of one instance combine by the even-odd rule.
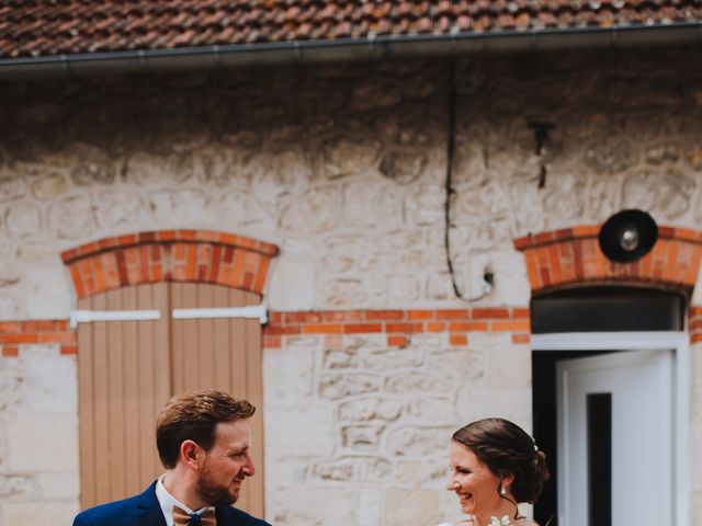
[[[333,344],[336,343],[336,344]],[[264,354],[267,511],[275,524],[438,524],[458,423],[494,414],[531,426],[529,345],[509,334],[287,338]],[[291,397],[291,393],[296,396]],[[304,433],[302,432],[304,430]],[[315,505],[310,505],[315,503]]]

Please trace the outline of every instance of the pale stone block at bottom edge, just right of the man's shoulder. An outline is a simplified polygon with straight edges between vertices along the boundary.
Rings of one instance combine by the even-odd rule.
[[[328,526],[356,524],[356,492],[342,488],[265,487],[265,517],[285,526]]]

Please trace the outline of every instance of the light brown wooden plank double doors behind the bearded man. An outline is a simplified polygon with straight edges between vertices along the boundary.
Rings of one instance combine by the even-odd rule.
[[[173,320],[173,308],[258,305],[257,295],[208,284],[145,284],[79,301],[80,309],[161,312],[155,321],[81,323],[78,329],[81,506],[136,494],[163,468],[156,418],[173,395],[216,388],[261,408],[258,320]],[[251,422],[258,472],[237,507],[263,513],[262,419]]]

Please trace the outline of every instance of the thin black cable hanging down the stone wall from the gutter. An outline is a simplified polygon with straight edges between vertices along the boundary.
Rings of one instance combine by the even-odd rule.
[[[452,58],[449,70],[449,136],[446,139],[446,198],[444,202],[443,242],[446,252],[446,266],[449,267],[449,275],[451,277],[453,293],[458,299],[462,299],[463,301],[477,301],[478,299],[485,298],[492,291],[492,283],[495,279],[492,271],[486,268],[483,274],[483,293],[475,297],[466,298],[463,293],[461,293],[458,284],[456,283],[456,276],[453,270],[453,260],[451,256],[451,199],[455,194],[455,190],[453,188],[453,162],[455,157],[456,141],[456,65],[455,59]]]

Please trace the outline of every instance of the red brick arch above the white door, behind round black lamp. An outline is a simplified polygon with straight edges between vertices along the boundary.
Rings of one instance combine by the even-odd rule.
[[[600,250],[600,225],[529,235],[514,240],[524,253],[532,291],[584,284],[639,284],[690,293],[702,256],[702,232],[658,227],[653,250],[633,263],[614,263]]]

